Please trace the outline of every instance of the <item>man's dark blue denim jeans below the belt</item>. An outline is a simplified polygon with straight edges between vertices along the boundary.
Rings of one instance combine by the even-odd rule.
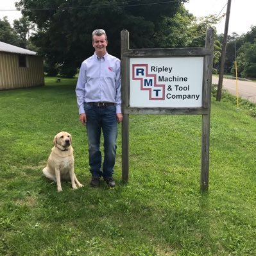
[[[114,173],[117,119],[115,106],[98,107],[85,103],[89,165],[93,177],[110,178]],[[104,138],[104,160],[101,169],[101,131]]]

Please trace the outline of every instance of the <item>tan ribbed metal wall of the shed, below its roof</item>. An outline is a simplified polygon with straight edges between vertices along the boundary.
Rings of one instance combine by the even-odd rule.
[[[27,67],[19,67],[19,55],[0,52],[0,90],[44,85],[42,57],[26,58]]]

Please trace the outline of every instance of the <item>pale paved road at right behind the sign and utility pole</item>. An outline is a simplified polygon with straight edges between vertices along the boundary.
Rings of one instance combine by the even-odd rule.
[[[216,76],[212,76],[212,83],[218,85],[219,78]],[[248,99],[248,101],[252,101],[256,103],[256,83],[252,81],[237,81],[237,92],[236,92],[236,81],[232,79],[223,79],[223,89],[228,90],[233,95],[237,95],[243,98]]]

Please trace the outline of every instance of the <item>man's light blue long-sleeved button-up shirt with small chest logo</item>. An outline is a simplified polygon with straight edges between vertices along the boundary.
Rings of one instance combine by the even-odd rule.
[[[121,113],[121,62],[106,53],[99,58],[96,53],[84,60],[76,84],[79,114],[85,113],[83,103],[112,102],[116,113]]]

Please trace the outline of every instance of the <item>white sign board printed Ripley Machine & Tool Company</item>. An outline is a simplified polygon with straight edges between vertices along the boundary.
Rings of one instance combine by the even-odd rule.
[[[203,57],[130,58],[130,107],[202,106]]]

